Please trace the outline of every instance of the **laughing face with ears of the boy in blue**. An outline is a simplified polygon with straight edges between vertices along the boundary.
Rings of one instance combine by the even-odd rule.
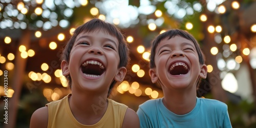
[[[195,45],[181,36],[159,42],[155,65],[156,68],[150,69],[151,79],[153,83],[159,81],[162,88],[194,87],[200,77],[206,78],[207,68],[199,63]]]

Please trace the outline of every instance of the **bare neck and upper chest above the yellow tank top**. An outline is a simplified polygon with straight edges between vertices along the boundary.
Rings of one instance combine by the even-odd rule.
[[[108,108],[107,95],[79,92],[73,88],[69,105],[74,117],[80,123],[94,124],[101,119]]]

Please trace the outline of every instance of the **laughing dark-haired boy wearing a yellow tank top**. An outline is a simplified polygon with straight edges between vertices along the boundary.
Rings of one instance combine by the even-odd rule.
[[[94,18],[78,27],[61,57],[72,94],[36,110],[30,127],[139,127],[137,114],[109,99],[129,63],[129,49],[112,24]]]

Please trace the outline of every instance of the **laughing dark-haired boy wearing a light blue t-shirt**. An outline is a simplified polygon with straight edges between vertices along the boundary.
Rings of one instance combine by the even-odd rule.
[[[188,32],[173,29],[154,39],[149,73],[164,97],[139,106],[140,127],[232,127],[225,103],[197,97],[197,84],[206,78],[207,66]]]

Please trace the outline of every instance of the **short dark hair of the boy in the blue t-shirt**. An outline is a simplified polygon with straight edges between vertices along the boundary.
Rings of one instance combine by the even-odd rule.
[[[172,30],[168,30],[160,35],[158,35],[152,42],[152,48],[151,48],[151,55],[150,55],[150,68],[155,68],[155,54],[156,54],[156,48],[159,44],[160,41],[162,41],[165,38],[173,38],[175,36],[181,36],[183,38],[186,38],[190,41],[192,41],[196,47],[197,53],[198,53],[198,57],[199,57],[199,62],[201,65],[204,64],[204,55],[200,49],[200,46],[197,42],[197,40],[194,38],[193,35],[191,35],[190,33],[188,33],[187,31],[181,30],[181,29],[172,29]]]

